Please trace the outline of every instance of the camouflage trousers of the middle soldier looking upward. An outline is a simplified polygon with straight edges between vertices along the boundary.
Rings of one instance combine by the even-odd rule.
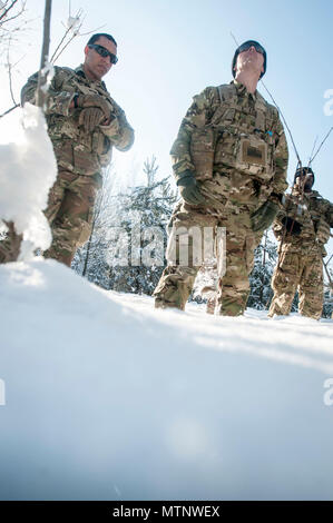
[[[185,309],[186,302],[194,286],[196,275],[203,265],[204,253],[199,260],[194,256],[194,230],[200,230],[202,237],[206,228],[225,228],[225,264],[224,270],[218,269],[216,314],[226,316],[242,315],[246,307],[249,293],[248,274],[254,264],[256,235],[251,228],[249,210],[243,206],[228,210],[207,206],[192,206],[182,201],[172,217],[172,233],[167,248],[168,265],[154,292],[157,308],[176,307]],[[206,229],[207,230],[207,229]],[[178,253],[188,237],[188,263],[182,263]],[[215,236],[216,238],[216,236]],[[176,246],[176,259],[170,262],[168,253],[170,244]],[[217,245],[217,266],[222,267],[223,249]]]

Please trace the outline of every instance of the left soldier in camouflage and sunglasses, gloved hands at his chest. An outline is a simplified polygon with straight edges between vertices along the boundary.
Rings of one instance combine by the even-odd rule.
[[[76,249],[89,238],[101,169],[112,146],[128,150],[134,130],[101,78],[117,62],[117,43],[110,34],[94,34],[85,48],[85,62],[72,70],[55,67],[46,108],[48,132],[58,164],[58,177],[45,211],[53,240],[45,253],[70,266]],[[22,103],[36,101],[38,73],[21,92]],[[0,243],[0,263],[19,254],[20,238],[11,228]]]

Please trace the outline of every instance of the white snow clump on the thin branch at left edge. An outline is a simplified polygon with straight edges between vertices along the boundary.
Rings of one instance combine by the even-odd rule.
[[[22,128],[14,141],[0,144],[0,221],[13,221],[23,235],[20,259],[27,259],[36,248],[46,250],[51,244],[42,210],[57,177],[57,162],[42,111],[31,103],[21,111]],[[0,125],[6,126],[6,118]]]

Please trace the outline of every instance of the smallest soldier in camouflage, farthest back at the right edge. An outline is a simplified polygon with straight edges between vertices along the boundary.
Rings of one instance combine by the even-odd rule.
[[[312,190],[313,182],[311,168],[296,170],[293,190],[273,225],[280,256],[272,278],[270,317],[290,314],[296,289],[303,316],[319,319],[322,314],[324,245],[333,227],[333,204]]]

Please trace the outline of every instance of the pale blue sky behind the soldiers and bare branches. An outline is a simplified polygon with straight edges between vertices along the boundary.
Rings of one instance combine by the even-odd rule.
[[[28,0],[27,8],[28,18],[35,21],[25,33],[25,59],[16,77],[18,91],[39,63],[43,2]],[[333,103],[332,116],[324,115],[324,105],[330,101],[324,93],[333,90],[331,1],[71,0],[71,12],[79,8],[86,16],[85,31],[104,26],[101,30],[118,41],[119,62],[105,81],[136,130],[133,151],[115,156],[118,175],[129,184],[138,181],[135,171],[140,171],[143,160],[153,154],[160,176],[170,174],[169,149],[192,97],[208,85],[232,79],[235,42],[231,31],[239,42],[253,38],[266,48],[264,81],[283,110],[304,164],[315,137],[319,135],[320,142],[333,126]],[[67,16],[68,1],[53,1],[52,48],[63,33],[61,21]],[[57,63],[77,66],[87,38],[77,38]],[[3,72],[4,85],[2,78]],[[267,98],[263,86],[258,90]],[[2,103],[6,100],[4,95]],[[296,158],[287,139],[291,181]],[[332,151],[333,134],[313,165],[316,188],[331,200]]]

